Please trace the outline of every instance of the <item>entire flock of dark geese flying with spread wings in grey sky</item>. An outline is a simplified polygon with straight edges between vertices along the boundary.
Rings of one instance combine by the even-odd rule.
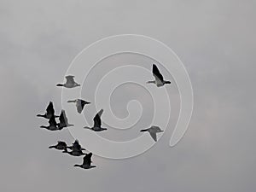
[[[165,84],[171,84],[170,81],[164,80],[162,74],[160,73],[158,67],[156,67],[155,64],[153,64],[152,73],[154,76],[154,80],[148,81],[147,82],[148,84],[156,84],[157,87],[164,86]],[[75,82],[73,75],[66,76],[66,79],[67,81],[65,84],[56,84],[56,86],[61,86],[65,88],[74,88],[74,87],[80,86],[80,84]],[[75,99],[67,102],[75,103],[78,113],[82,113],[84,106],[90,104],[90,102],[86,102],[82,99]],[[101,119],[102,113],[103,113],[103,109],[101,109],[98,113],[96,113],[93,119],[94,125],[92,127],[84,126],[84,129],[89,129],[90,131],[107,131],[108,130],[107,128],[102,127],[102,119]],[[68,123],[65,110],[61,110],[60,115],[55,115],[53,102],[49,102],[49,105],[46,108],[46,112],[44,114],[38,114],[37,116],[42,117],[44,119],[49,119],[49,125],[40,126],[40,128],[47,129],[49,131],[61,131],[64,128],[74,126],[73,124]],[[59,119],[59,122],[57,123],[55,119]],[[156,134],[159,132],[163,132],[160,130],[159,126],[154,126],[154,125],[148,129],[144,129],[141,131],[148,132],[155,142],[157,142]],[[84,153],[85,148],[82,148],[82,146],[79,144],[79,140],[75,140],[71,146],[67,146],[67,143],[63,141],[58,141],[56,145],[49,146],[49,148],[55,148],[57,150],[61,150],[62,153],[70,154],[72,156],[84,155],[83,163],[81,165],[76,164],[74,166],[78,166],[83,169],[91,169],[96,167],[91,165],[92,153],[85,154]]]

